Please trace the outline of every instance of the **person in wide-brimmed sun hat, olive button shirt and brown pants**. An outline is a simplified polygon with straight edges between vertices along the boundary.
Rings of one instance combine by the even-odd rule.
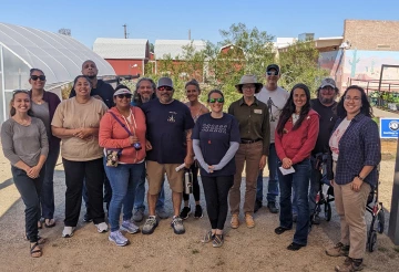
[[[239,227],[239,188],[245,164],[244,215],[246,226],[254,228],[253,213],[256,198],[256,180],[259,169],[263,169],[266,165],[269,150],[269,116],[267,105],[255,97],[255,94],[259,93],[263,87],[263,84],[257,82],[255,75],[244,75],[235,86],[243,94],[243,97],[232,103],[228,113],[238,121],[242,139],[235,155],[237,171],[229,191],[231,224],[233,229]]]

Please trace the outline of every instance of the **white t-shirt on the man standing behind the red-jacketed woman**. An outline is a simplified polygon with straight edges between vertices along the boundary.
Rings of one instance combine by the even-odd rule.
[[[270,143],[275,143],[275,130],[283,107],[289,97],[289,93],[283,87],[277,86],[275,91],[268,91],[265,86],[256,94],[256,98],[265,103],[269,111],[270,122]]]

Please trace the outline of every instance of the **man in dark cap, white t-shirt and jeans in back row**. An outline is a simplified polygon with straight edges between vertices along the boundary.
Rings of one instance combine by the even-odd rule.
[[[275,147],[275,130],[278,117],[286,104],[289,93],[277,85],[280,77],[280,69],[277,64],[270,64],[266,67],[266,85],[260,90],[256,97],[265,103],[268,108],[270,123],[270,145],[267,168],[269,170],[269,179],[267,187],[267,208],[272,213],[277,213],[276,197],[278,196],[278,175],[277,175],[277,154]],[[258,211],[263,202],[263,169],[257,178],[256,200],[254,212]]]

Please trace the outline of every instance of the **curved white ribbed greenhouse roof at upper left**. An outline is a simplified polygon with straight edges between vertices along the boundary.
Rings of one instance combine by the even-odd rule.
[[[47,76],[47,84],[73,81],[81,74],[82,63],[86,60],[95,62],[99,75],[115,74],[105,60],[68,35],[0,23],[0,45],[28,67],[41,69]]]

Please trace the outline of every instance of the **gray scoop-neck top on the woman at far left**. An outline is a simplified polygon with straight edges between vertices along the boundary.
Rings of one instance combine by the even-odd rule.
[[[9,118],[1,125],[1,145],[4,157],[16,165],[22,160],[28,166],[38,165],[40,155],[48,156],[49,142],[43,122],[32,117],[29,126]]]

